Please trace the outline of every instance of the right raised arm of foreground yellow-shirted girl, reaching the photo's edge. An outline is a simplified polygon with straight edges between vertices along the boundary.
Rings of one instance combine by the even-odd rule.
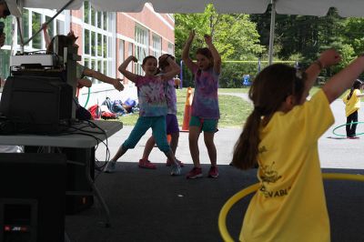
[[[343,92],[349,89],[358,76],[364,71],[364,56],[360,55],[349,66],[342,69],[337,75],[332,76],[329,81],[322,86],[322,90],[332,103]]]

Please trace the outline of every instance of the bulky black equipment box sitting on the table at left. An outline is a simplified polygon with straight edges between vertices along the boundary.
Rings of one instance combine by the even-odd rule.
[[[0,112],[15,124],[16,133],[57,134],[69,125],[72,92],[60,76],[9,76]]]

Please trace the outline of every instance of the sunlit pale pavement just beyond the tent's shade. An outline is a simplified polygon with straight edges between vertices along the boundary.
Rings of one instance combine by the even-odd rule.
[[[248,100],[246,94],[224,94],[240,96]],[[363,105],[364,108],[364,105]],[[319,138],[319,156],[321,166],[323,168],[349,168],[349,169],[364,169],[364,159],[362,157],[364,148],[364,136],[360,139],[338,139],[339,136],[334,136],[332,130],[339,125],[346,123],[345,106],[340,99],[331,104],[331,109],[335,116],[335,124]],[[319,114],[318,114],[319,115]],[[359,110],[359,121],[364,121],[364,113]],[[129,136],[133,126],[124,126],[119,132],[108,139],[108,148],[110,155],[114,156],[118,147]],[[337,132],[345,135],[345,126],[340,127]],[[357,133],[364,132],[364,124],[359,124]],[[228,165],[232,158],[232,151],[238,136],[241,133],[240,128],[219,128],[215,136],[215,144],[217,146],[217,165]],[[134,149],[130,149],[124,156],[118,159],[119,162],[137,162],[143,155],[144,146],[147,138],[151,136],[151,130],[139,141]],[[335,137],[335,138],[329,138]],[[204,144],[203,135],[199,140],[200,162],[201,164],[209,164],[207,149]],[[181,132],[179,136],[179,144],[177,147],[177,158],[186,164],[192,164],[192,158],[188,147],[188,133]],[[96,150],[96,157],[99,160],[105,160],[106,148],[100,145]],[[155,163],[165,163],[166,156],[156,148],[153,149],[150,158]],[[183,173],[187,173],[183,171]]]

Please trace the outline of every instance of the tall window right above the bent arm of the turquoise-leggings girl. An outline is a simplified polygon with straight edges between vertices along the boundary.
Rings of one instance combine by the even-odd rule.
[[[142,69],[143,59],[148,55],[148,31],[146,28],[136,25],[136,74],[144,75]]]

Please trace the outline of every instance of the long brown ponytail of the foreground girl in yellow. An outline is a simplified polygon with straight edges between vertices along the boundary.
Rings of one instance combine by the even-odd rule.
[[[234,146],[233,166],[246,170],[258,164],[259,126],[261,115],[258,108],[248,116],[247,122]]]

